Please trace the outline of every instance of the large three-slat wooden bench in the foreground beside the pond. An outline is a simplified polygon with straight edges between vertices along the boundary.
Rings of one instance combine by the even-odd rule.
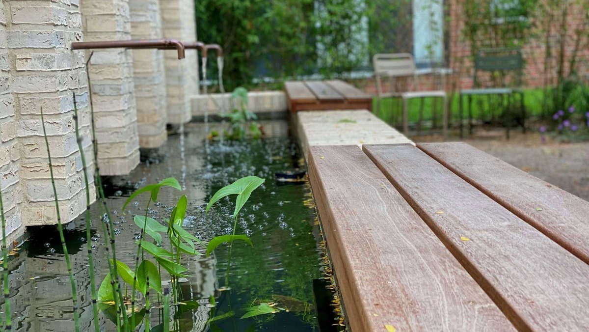
[[[309,177],[353,331],[589,329],[589,202],[460,143],[312,146]]]

